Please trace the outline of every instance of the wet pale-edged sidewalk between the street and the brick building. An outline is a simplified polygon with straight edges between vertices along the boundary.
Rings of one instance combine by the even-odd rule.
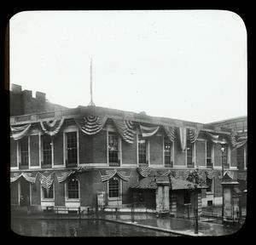
[[[17,217],[17,216],[16,216]],[[79,219],[78,215],[70,214],[33,214],[26,216],[19,215],[25,219]],[[136,225],[157,231],[166,231],[183,236],[225,236],[231,235],[239,230],[237,227],[225,226],[220,224],[212,224],[207,222],[198,222],[198,234],[194,232],[194,219],[172,218],[169,215],[156,217],[155,214],[135,213],[134,222],[131,223],[131,213],[99,213],[99,214],[84,214],[80,219],[102,219],[111,222],[118,222],[126,225]]]

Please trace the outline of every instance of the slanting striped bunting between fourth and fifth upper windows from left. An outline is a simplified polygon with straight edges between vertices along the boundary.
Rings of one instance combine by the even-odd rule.
[[[134,134],[136,134],[136,131],[133,129],[133,122],[114,118],[112,120],[123,140],[132,144]]]

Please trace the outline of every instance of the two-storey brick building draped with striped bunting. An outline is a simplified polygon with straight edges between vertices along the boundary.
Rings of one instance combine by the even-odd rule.
[[[85,212],[132,204],[187,216],[195,201],[199,214],[203,206],[222,204],[222,161],[224,173],[237,179],[230,128],[98,106],[26,108],[10,117],[14,208]],[[195,168],[207,184],[196,196],[188,181]]]

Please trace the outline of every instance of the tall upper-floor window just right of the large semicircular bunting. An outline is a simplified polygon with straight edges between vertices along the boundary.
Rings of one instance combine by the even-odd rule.
[[[119,136],[115,132],[108,132],[108,162],[119,165]]]

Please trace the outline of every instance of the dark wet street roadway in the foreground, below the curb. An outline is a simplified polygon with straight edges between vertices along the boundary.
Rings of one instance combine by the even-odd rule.
[[[177,236],[96,219],[12,219],[11,227],[23,236]]]

